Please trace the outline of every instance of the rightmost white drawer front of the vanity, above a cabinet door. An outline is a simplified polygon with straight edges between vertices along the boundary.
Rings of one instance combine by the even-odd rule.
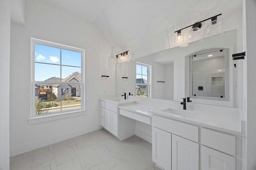
[[[236,156],[236,137],[202,128],[202,145]]]

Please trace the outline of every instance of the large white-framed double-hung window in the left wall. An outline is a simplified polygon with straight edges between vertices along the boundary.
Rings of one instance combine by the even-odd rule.
[[[84,49],[31,38],[31,57],[32,117],[84,110]]]

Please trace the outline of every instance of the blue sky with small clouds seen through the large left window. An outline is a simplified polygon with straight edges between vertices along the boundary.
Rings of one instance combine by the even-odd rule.
[[[51,77],[66,78],[76,71],[81,73],[81,53],[76,51],[35,44],[35,62],[40,62],[35,63],[36,81],[44,81]],[[60,67],[60,62],[68,66]],[[60,75],[60,69],[62,69],[62,75]]]

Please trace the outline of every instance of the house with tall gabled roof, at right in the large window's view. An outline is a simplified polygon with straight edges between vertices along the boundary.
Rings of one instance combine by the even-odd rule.
[[[73,97],[81,96],[80,84],[72,84],[72,82],[81,82],[81,74],[79,72],[74,72],[61,81],[70,82],[70,84],[62,84],[62,86],[60,84],[53,84],[52,93],[56,98],[64,98],[66,94]]]

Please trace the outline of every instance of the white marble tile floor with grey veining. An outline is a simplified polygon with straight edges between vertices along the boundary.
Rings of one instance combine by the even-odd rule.
[[[10,157],[10,170],[160,170],[152,144],[136,135],[120,141],[105,129]]]

